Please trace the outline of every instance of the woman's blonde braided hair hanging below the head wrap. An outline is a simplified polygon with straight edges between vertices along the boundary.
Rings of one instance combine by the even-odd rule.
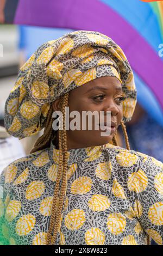
[[[60,220],[61,220],[61,211],[64,204],[64,198],[66,196],[66,187],[67,187],[67,161],[68,161],[68,152],[67,152],[67,136],[65,130],[65,107],[68,106],[68,93],[64,94],[61,98],[61,112],[63,115],[63,128],[64,130],[59,130],[59,166],[58,166],[58,173],[57,173],[57,180],[55,182],[55,189],[54,189],[54,197],[52,203],[52,215],[49,223],[49,229],[47,234],[47,245],[54,245],[57,232],[59,230]],[[54,138],[53,128],[52,128],[52,112],[53,107],[49,108],[45,130],[43,135],[37,139],[34,144],[34,148],[30,151],[30,153],[34,153],[35,151],[42,150],[46,147],[49,147],[52,139]],[[121,121],[122,130],[124,133],[125,141],[127,149],[129,147],[129,141],[126,131],[126,126],[124,125],[123,121]],[[116,133],[112,138],[112,142],[114,145],[118,145],[116,139]],[[59,194],[59,185],[61,180],[61,188]]]

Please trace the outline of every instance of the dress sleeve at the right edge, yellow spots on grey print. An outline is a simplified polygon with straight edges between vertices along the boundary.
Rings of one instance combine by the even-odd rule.
[[[158,245],[163,240],[163,164],[147,157],[137,172],[130,175],[128,187],[133,191],[134,211],[141,227]]]

